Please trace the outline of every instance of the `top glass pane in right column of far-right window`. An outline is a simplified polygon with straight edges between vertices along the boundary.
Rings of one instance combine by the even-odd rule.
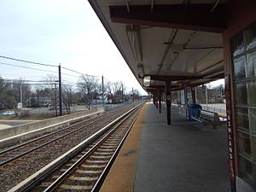
[[[247,27],[245,30],[245,38],[247,50],[256,47],[256,22]]]

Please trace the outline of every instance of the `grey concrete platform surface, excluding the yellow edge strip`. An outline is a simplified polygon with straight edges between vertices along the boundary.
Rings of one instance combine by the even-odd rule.
[[[135,192],[228,192],[228,145],[225,125],[212,130],[189,122],[172,108],[158,113],[148,104],[137,159]]]

